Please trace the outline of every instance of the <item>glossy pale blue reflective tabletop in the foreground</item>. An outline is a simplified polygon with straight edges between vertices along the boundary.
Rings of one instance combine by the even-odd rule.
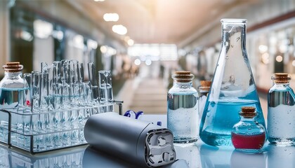
[[[247,154],[233,148],[216,148],[202,141],[195,145],[175,146],[178,159],[168,167],[202,168],[294,168],[295,146],[265,145],[263,153]],[[105,155],[91,146],[77,146],[58,151],[30,155],[0,146],[0,167],[137,167],[119,158]]]

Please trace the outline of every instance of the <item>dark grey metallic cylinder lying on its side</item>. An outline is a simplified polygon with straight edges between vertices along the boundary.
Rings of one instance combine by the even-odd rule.
[[[84,137],[99,151],[142,167],[159,167],[176,160],[170,130],[114,112],[91,116]]]

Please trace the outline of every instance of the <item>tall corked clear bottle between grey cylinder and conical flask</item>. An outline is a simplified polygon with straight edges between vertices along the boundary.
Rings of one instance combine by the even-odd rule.
[[[192,87],[194,76],[190,71],[176,71],[173,87],[167,95],[167,128],[173,133],[173,142],[188,144],[199,138],[197,90]]]

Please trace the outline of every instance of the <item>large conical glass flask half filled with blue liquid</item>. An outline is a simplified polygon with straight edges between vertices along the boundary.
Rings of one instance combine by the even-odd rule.
[[[265,127],[261,104],[246,51],[244,19],[223,19],[221,52],[206,99],[199,135],[211,146],[232,146],[231,130],[242,106],[254,106]]]

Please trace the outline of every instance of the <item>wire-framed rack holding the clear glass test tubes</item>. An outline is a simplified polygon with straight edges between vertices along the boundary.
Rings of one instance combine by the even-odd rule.
[[[67,110],[29,111],[29,113],[20,113],[17,109],[1,110],[0,143],[9,148],[20,149],[32,154],[84,145],[87,144],[84,138],[86,120],[91,115],[106,112],[103,108],[114,105],[119,106],[119,114],[122,115],[122,104],[122,101],[112,101],[108,104],[71,106]],[[51,125],[47,123],[46,125],[45,122],[45,124],[43,123],[45,125],[44,129],[39,132],[33,131],[33,127],[39,127],[40,125],[38,118],[53,118],[56,115],[72,115],[75,118],[65,121],[59,127],[54,127],[54,123]],[[22,122],[19,120],[22,120]],[[20,125],[22,129],[13,128],[15,127],[14,123]],[[28,127],[29,130],[26,130],[25,127]]]

